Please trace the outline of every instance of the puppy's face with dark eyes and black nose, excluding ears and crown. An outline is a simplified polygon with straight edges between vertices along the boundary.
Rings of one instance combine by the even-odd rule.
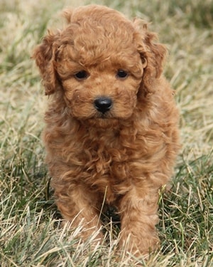
[[[73,117],[106,120],[131,116],[143,63],[131,42],[120,41],[116,46],[117,38],[121,40],[122,36],[99,40],[89,34],[79,41],[74,34],[75,45],[60,47],[55,68]],[[87,48],[87,43],[92,47]]]

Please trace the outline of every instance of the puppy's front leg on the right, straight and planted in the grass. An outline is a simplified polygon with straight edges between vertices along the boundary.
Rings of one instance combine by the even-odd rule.
[[[121,246],[139,256],[158,246],[158,190],[132,189],[120,202]]]

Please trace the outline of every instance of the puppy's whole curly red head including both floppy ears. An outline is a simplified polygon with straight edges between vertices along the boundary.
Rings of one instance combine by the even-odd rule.
[[[70,114],[79,120],[129,118],[138,92],[153,93],[165,48],[154,43],[140,20],[129,21],[104,6],[64,12],[67,26],[48,33],[35,48],[45,94],[61,90]]]

